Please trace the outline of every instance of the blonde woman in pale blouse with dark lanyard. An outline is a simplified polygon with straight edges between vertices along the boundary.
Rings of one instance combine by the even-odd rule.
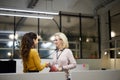
[[[64,33],[58,32],[53,35],[56,50],[53,61],[50,63],[50,71],[65,71],[67,80],[69,78],[69,70],[76,67],[76,60],[72,51],[68,48],[68,39]]]

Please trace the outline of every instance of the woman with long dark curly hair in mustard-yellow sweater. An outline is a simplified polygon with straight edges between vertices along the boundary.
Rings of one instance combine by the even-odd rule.
[[[39,72],[47,67],[47,63],[41,64],[36,44],[40,36],[33,32],[26,33],[21,40],[21,57],[23,60],[23,72]]]

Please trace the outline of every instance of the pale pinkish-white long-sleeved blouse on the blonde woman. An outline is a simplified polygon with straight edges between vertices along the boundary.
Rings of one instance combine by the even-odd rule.
[[[76,67],[76,60],[73,56],[73,53],[70,49],[64,49],[62,51],[55,51],[53,53],[53,61],[51,65],[58,65],[63,67],[63,70],[69,74],[69,70]]]

